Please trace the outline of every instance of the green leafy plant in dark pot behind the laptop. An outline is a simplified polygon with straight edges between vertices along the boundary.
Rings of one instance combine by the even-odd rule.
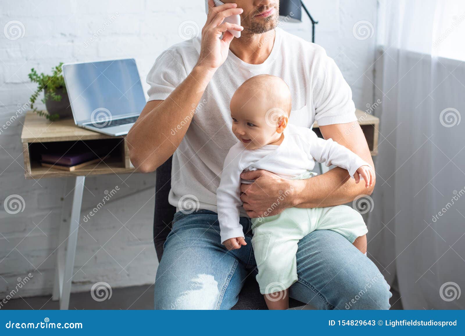
[[[52,68],[52,75],[45,75],[43,72],[39,75],[34,68],[28,75],[33,83],[37,83],[37,90],[29,99],[31,102],[31,109],[39,116],[45,116],[50,121],[58,119],[66,119],[73,116],[71,111],[68,94],[66,92],[65,80],[61,74],[61,62],[58,66]],[[45,103],[47,112],[37,110],[33,106],[40,92],[44,90],[44,98],[41,99]]]

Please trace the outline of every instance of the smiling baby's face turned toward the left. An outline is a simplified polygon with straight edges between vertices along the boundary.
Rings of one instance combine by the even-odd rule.
[[[259,108],[254,110],[238,109],[231,111],[233,119],[233,133],[246,149],[257,149],[281,136],[277,132],[277,122],[266,118],[266,111]]]

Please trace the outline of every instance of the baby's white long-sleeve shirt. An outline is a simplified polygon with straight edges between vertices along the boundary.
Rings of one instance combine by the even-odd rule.
[[[284,130],[280,145],[265,145],[250,150],[237,142],[226,155],[216,191],[221,242],[244,237],[239,224],[239,207],[242,205],[240,174],[243,171],[265,169],[290,179],[312,170],[315,162],[347,169],[351,177],[361,166],[370,166],[359,155],[332,139],[319,138],[312,129],[292,124],[288,124]]]

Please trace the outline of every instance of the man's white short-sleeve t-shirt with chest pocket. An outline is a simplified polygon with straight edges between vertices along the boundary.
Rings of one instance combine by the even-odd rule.
[[[223,162],[237,142],[231,130],[229,103],[246,79],[258,74],[282,78],[291,91],[292,124],[311,128],[314,120],[320,126],[357,120],[352,91],[325,50],[280,27],[275,31],[272,52],[265,62],[245,63],[230,50],[207,85],[192,123],[173,154],[168,200],[177,211],[188,200],[191,205],[195,201],[196,209],[217,212],[216,189]],[[177,43],[159,55],[147,75],[149,100],[166,99],[186,79],[199,59],[200,41],[198,36]],[[246,216],[243,209],[241,215]]]

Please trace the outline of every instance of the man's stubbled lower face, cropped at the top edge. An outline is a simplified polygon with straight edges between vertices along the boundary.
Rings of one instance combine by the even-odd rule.
[[[263,34],[278,26],[279,0],[227,0],[224,3],[236,3],[244,11],[240,14],[242,34]],[[264,12],[268,12],[260,15]]]

